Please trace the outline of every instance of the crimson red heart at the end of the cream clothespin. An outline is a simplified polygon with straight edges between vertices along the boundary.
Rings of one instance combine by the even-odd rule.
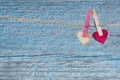
[[[93,38],[98,41],[99,43],[102,43],[104,44],[104,42],[106,41],[107,39],[107,36],[108,36],[108,31],[107,30],[102,30],[103,32],[103,36],[99,36],[98,32],[94,32],[93,33]]]

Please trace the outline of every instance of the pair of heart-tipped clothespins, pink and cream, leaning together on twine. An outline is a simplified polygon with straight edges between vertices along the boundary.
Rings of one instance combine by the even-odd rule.
[[[93,16],[94,19],[94,24],[95,27],[97,29],[96,32],[94,32],[93,34],[88,32],[88,27],[90,25],[90,16]],[[108,36],[108,31],[105,29],[101,29],[100,24],[99,24],[99,20],[97,17],[97,13],[95,10],[88,10],[87,11],[87,16],[86,16],[86,20],[85,20],[85,25],[84,25],[84,31],[79,31],[78,34],[78,39],[80,40],[80,42],[82,44],[86,44],[90,41],[90,39],[93,37],[97,42],[104,44],[105,41],[107,40],[107,36]]]

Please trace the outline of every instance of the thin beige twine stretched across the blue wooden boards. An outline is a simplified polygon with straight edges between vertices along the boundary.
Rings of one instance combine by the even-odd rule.
[[[17,21],[24,21],[24,22],[41,22],[41,23],[47,23],[47,24],[54,24],[54,25],[66,25],[66,26],[84,26],[83,24],[67,24],[63,22],[54,22],[50,20],[40,20],[40,19],[28,19],[28,18],[10,18],[7,16],[0,16],[2,19],[8,19],[8,20],[17,20]],[[106,24],[101,26],[120,26],[120,24]],[[94,27],[94,25],[91,25],[91,27]]]

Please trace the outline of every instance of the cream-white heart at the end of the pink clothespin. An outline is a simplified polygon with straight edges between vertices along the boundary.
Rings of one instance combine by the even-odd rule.
[[[80,40],[80,42],[82,44],[88,43],[90,41],[90,39],[92,38],[92,34],[91,33],[87,33],[87,36],[83,37],[83,32],[82,31],[79,31],[77,36],[78,36],[78,39]]]

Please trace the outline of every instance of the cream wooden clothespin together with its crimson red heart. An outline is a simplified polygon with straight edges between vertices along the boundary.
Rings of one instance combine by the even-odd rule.
[[[105,29],[103,30],[101,29],[96,11],[92,10],[92,13],[93,13],[95,27],[97,29],[97,31],[94,32],[92,36],[96,41],[98,41],[101,44],[104,44],[105,41],[107,40],[108,31]]]

